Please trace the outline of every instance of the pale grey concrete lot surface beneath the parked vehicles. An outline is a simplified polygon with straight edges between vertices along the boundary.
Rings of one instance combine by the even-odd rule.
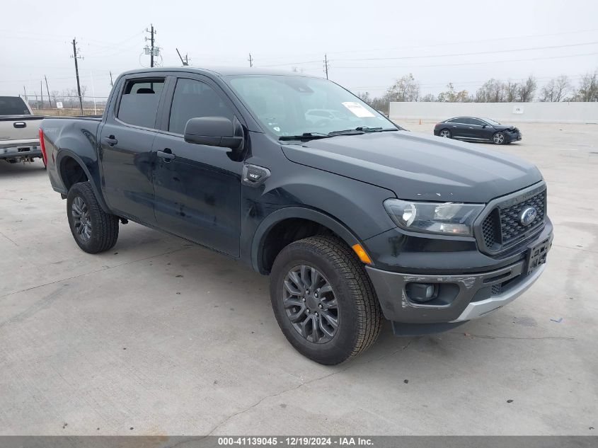
[[[287,343],[267,277],[137,224],[88,255],[41,162],[0,163],[0,434],[595,435],[598,125],[519,127],[480,146],[544,173],[543,277],[449,333],[385,326],[336,367]]]

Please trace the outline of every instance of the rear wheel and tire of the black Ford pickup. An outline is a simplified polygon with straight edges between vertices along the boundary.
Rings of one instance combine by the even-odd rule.
[[[67,195],[71,234],[81,250],[99,253],[113,248],[118,239],[118,217],[103,211],[88,182],[74,184]]]

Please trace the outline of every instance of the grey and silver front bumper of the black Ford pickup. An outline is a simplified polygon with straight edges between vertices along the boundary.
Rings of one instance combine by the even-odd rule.
[[[529,242],[527,252],[542,247],[541,258],[522,257],[517,262],[487,272],[442,275],[429,272],[401,273],[366,266],[384,316],[393,321],[395,333],[401,325],[429,328],[428,333],[444,331],[465,321],[484,316],[517,299],[544,271],[546,254],[553,234],[541,233]],[[532,268],[535,269],[531,270]],[[410,283],[435,285],[436,296],[420,303],[410,299]]]

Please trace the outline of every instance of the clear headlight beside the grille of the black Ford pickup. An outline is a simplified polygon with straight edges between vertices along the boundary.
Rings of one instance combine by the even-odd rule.
[[[387,199],[384,208],[401,229],[430,234],[473,235],[473,221],[483,204],[410,202]]]

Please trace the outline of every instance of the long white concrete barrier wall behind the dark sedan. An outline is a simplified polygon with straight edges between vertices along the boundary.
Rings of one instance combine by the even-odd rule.
[[[488,117],[504,122],[598,123],[598,103],[391,103],[391,120]]]

